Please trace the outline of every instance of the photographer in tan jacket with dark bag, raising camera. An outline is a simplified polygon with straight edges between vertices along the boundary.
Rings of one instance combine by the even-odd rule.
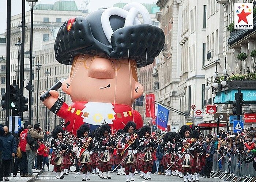
[[[39,148],[38,139],[43,140],[44,133],[42,132],[42,128],[39,126],[39,124],[35,124],[34,128],[27,131],[27,177],[34,177],[32,166],[35,161],[37,149]]]

